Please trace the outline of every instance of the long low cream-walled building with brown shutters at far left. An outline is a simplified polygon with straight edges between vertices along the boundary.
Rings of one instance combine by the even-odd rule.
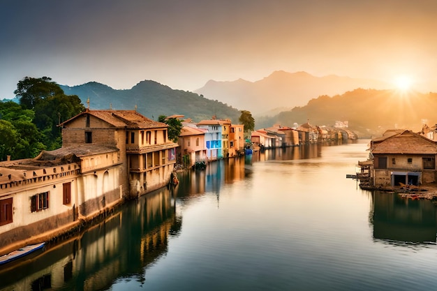
[[[114,207],[123,198],[121,173],[119,150],[95,145],[1,162],[0,254],[46,241]]]

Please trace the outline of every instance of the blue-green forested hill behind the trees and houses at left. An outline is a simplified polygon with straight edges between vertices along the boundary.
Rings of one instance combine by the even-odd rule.
[[[79,86],[60,85],[67,95],[79,96],[82,103],[94,110],[134,110],[151,119],[157,120],[160,115],[182,114],[194,121],[211,119],[231,119],[237,123],[241,112],[217,100],[209,100],[198,94],[174,90],[158,82],[145,80],[132,89],[112,89],[105,84],[89,82]]]

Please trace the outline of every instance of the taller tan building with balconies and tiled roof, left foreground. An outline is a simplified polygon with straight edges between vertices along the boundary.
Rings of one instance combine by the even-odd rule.
[[[135,110],[85,110],[61,126],[63,146],[101,144],[119,149],[121,187],[130,197],[168,184],[178,145],[168,140],[167,124]]]

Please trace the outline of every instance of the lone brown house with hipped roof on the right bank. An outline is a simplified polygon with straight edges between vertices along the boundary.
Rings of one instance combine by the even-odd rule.
[[[371,140],[373,186],[429,184],[436,181],[436,142],[410,130]]]

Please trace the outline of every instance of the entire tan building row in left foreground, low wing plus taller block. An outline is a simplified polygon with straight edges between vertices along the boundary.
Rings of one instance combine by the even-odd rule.
[[[133,110],[85,110],[61,126],[61,149],[0,163],[0,255],[170,181],[177,144],[166,124]]]

